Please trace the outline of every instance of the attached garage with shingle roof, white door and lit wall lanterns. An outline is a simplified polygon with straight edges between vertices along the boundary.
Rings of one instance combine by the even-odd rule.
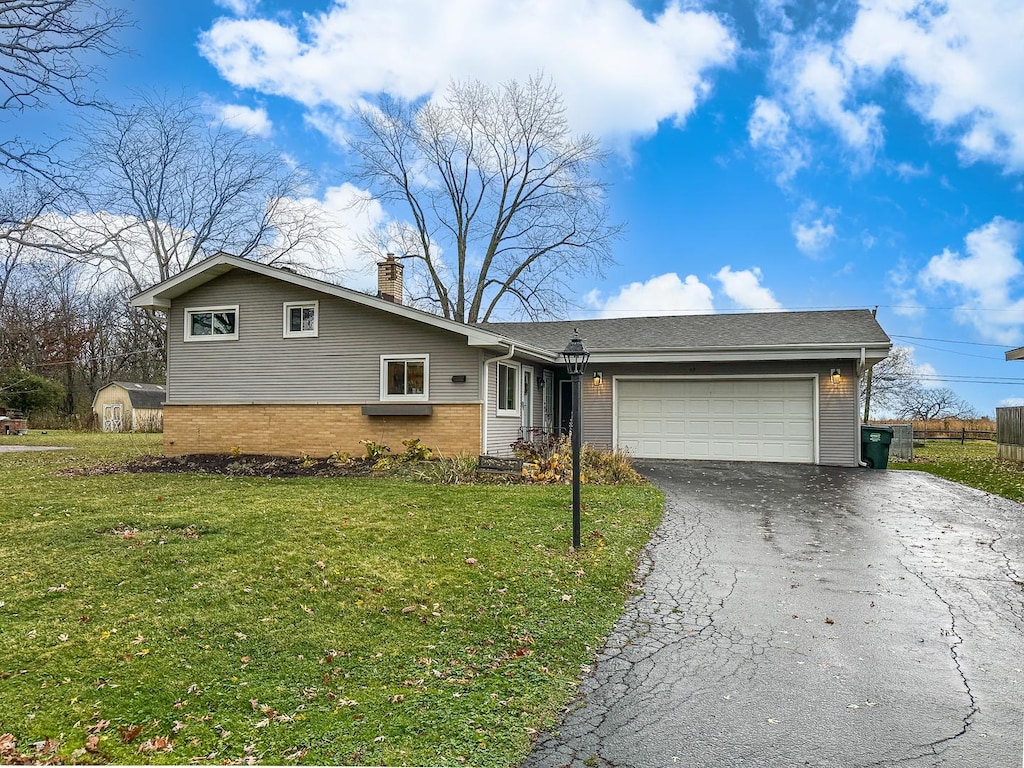
[[[591,353],[584,442],[643,459],[856,467],[860,381],[892,346],[866,309],[485,328],[552,350],[579,334]],[[567,425],[561,399],[559,411]]]

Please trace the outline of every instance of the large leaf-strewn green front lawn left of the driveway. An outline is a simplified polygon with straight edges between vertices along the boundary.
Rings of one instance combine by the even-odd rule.
[[[573,555],[566,486],[68,474],[159,435],[17,439],[76,450],[0,455],[0,763],[9,733],[77,762],[516,765],[662,510],[586,486]]]

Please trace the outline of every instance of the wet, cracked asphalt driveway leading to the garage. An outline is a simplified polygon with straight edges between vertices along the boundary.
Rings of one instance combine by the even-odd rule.
[[[640,469],[664,522],[524,768],[1024,765],[1024,506],[920,472]]]

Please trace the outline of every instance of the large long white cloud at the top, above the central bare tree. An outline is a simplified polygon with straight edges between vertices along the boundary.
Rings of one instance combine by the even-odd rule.
[[[381,92],[417,98],[452,78],[544,72],[575,129],[628,138],[685,121],[737,42],[717,15],[678,0],[650,18],[628,0],[349,0],[301,26],[221,18],[200,47],[238,87],[342,115]]]

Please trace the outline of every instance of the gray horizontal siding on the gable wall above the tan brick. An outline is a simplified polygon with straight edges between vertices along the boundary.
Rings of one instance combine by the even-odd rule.
[[[284,303],[319,301],[316,338],[283,338]],[[185,308],[239,306],[239,338],[189,341]],[[479,353],[465,338],[344,299],[236,270],[175,299],[168,401],[362,403],[380,400],[382,354],[429,354],[430,402],[479,402]],[[452,377],[466,377],[454,383]]]

